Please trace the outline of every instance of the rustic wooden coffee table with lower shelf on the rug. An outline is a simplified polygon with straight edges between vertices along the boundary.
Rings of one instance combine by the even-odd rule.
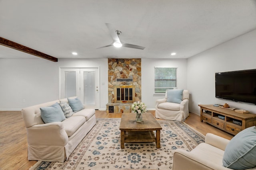
[[[142,122],[136,122],[136,113],[122,113],[119,129],[121,149],[124,149],[125,142],[156,142],[156,148],[160,148],[162,127],[151,113],[143,113]],[[153,131],[156,131],[156,136]]]

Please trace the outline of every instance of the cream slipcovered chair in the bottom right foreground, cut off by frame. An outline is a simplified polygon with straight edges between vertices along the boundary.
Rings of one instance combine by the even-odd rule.
[[[231,170],[222,163],[229,142],[228,139],[207,133],[205,143],[200,143],[192,151],[175,150],[172,170]],[[250,170],[256,170],[256,167]]]

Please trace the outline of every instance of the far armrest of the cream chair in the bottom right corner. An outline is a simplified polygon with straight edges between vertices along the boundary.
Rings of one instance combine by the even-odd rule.
[[[223,137],[214,135],[212,133],[207,133],[205,136],[205,143],[217,147],[218,149],[225,150],[230,140]]]

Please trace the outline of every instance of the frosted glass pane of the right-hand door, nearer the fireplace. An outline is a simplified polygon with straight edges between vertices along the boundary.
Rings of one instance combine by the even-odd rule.
[[[84,72],[84,104],[95,105],[95,72]]]

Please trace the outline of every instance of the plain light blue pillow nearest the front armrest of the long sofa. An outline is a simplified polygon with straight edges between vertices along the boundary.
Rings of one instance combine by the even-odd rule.
[[[66,119],[58,103],[55,103],[49,107],[40,107],[40,111],[44,123],[64,121]]]

